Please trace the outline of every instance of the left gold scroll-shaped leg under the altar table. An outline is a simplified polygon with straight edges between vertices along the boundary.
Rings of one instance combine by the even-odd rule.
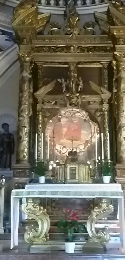
[[[28,198],[27,204],[22,205],[22,211],[27,215],[27,219],[36,220],[38,223],[38,227],[26,227],[24,234],[25,241],[27,243],[36,242],[37,244],[47,242],[49,240],[50,218],[46,209],[39,206],[39,199]]]

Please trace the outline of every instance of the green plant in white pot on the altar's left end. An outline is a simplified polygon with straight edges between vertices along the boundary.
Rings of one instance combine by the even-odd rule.
[[[47,165],[42,162],[42,161],[38,161],[36,163],[36,166],[35,166],[35,173],[38,175],[39,177],[39,183],[45,183],[45,175],[46,175],[46,171],[47,171]]]

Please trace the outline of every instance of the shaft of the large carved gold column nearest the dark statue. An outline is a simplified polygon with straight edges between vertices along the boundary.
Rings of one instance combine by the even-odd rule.
[[[32,113],[32,105],[30,103],[30,94],[32,95],[31,56],[20,53],[19,58],[21,72],[19,83],[16,163],[24,165],[29,164],[29,116]]]

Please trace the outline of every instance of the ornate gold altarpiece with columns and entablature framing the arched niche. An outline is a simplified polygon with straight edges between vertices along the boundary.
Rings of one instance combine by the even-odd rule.
[[[12,26],[20,47],[17,156],[16,164],[13,166],[14,187],[21,188],[22,184],[29,182],[31,169],[29,154],[33,147],[32,143],[35,141],[35,132],[38,133],[37,157],[40,159],[41,132],[45,132],[47,122],[57,111],[68,107],[69,104],[89,112],[98,124],[99,118],[103,118],[103,124],[99,125],[104,133],[105,160],[108,156],[108,120],[109,107],[111,108],[114,151],[117,147],[116,181],[122,183],[125,188],[125,7],[121,1],[113,1],[108,7],[107,15],[94,13],[102,33],[100,35],[92,35],[90,24],[84,35],[79,34],[76,9],[74,15],[67,17],[67,34],[60,35],[59,25],[55,23],[55,27],[49,30],[48,35],[44,35],[50,17],[50,13],[38,14],[35,0],[32,3],[24,0],[15,8],[12,19]],[[49,95],[49,90],[53,88],[58,78],[57,75],[55,75],[55,81],[46,86],[42,85],[44,67],[54,67],[55,72],[57,67],[68,67],[72,73],[70,76],[73,75],[73,81],[76,80],[76,68],[101,67],[103,84],[97,86],[94,82],[90,82],[92,89],[97,93],[95,95],[77,95],[76,90],[70,89],[70,101],[67,104],[67,97],[64,94]],[[114,73],[110,73],[110,69],[114,69]],[[116,129],[114,122],[117,125]],[[115,161],[115,157],[113,159]]]

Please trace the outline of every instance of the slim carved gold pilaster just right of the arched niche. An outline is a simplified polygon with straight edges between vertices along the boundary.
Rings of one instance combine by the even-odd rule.
[[[107,99],[104,100],[102,111],[103,111],[104,160],[108,161],[109,104]]]

